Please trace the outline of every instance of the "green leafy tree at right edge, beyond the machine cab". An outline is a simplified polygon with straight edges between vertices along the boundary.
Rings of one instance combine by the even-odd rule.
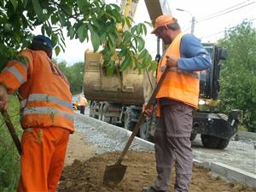
[[[219,41],[229,56],[221,69],[222,108],[239,108],[248,131],[256,131],[256,29],[243,21]]]

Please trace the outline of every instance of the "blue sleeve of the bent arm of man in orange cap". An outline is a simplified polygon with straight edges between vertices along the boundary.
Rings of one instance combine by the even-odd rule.
[[[194,35],[184,35],[180,46],[181,58],[177,60],[177,68],[184,71],[202,71],[211,67],[210,55]]]

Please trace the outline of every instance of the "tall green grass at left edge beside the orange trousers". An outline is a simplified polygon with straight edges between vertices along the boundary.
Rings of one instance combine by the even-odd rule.
[[[15,96],[9,96],[9,115],[15,125],[19,137],[20,127],[20,103]],[[4,124],[3,117],[0,118],[0,191],[16,191],[20,179],[20,155],[15,148],[15,143]]]

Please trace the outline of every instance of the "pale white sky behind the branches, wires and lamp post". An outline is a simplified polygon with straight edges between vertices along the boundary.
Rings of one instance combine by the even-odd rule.
[[[139,0],[137,11],[134,16],[136,23],[150,21],[148,10],[144,3]],[[154,0],[146,0],[154,1]],[[160,0],[163,1],[163,0]],[[120,4],[120,0],[106,0],[106,3]],[[256,27],[256,0],[168,0],[172,15],[177,18],[182,31],[189,33],[191,30],[192,16],[195,17],[195,36],[201,42],[217,42],[224,36],[224,31],[230,27],[241,24],[243,20],[249,20]],[[183,9],[184,11],[178,11]],[[150,32],[148,28],[148,33]],[[148,34],[144,37],[146,48],[153,56],[156,53],[156,37]],[[81,44],[79,40],[66,39],[65,53],[61,51],[57,61],[67,61],[68,65],[84,61],[85,49],[92,49],[90,42]]]

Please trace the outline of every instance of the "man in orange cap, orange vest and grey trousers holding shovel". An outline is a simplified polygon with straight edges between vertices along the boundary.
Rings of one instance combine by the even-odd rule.
[[[170,71],[156,96],[158,117],[154,132],[157,177],[153,186],[143,192],[167,192],[172,164],[175,162],[174,192],[189,192],[192,174],[192,113],[198,106],[199,71],[211,67],[211,58],[200,41],[183,34],[172,15],[160,15],[154,22],[154,33],[168,45],[159,61],[157,81],[166,66]],[[148,115],[153,107],[145,108]]]

